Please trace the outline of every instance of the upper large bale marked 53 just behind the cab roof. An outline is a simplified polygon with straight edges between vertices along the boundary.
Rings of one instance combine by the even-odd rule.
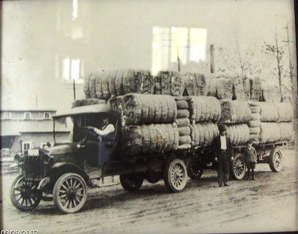
[[[172,123],[176,120],[175,100],[166,95],[126,94],[109,99],[121,114],[122,126],[145,123]]]

